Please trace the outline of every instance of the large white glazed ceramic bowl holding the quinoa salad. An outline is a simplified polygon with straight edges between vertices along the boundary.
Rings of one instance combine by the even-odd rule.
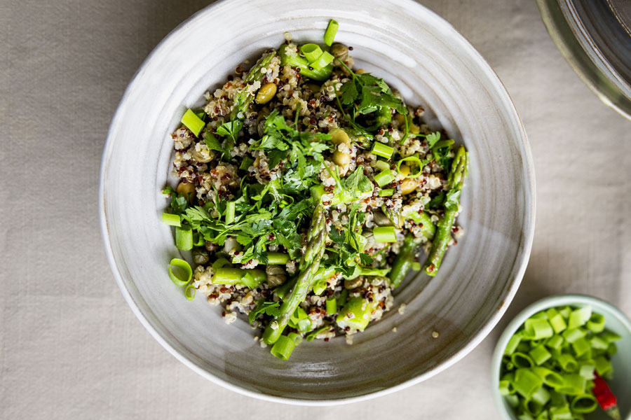
[[[239,16],[239,25],[226,16]],[[470,151],[459,223],[466,235],[432,281],[397,290],[395,309],[355,335],[301,344],[284,362],[247,321],[184,299],[167,275],[178,255],[161,223],[172,141],[186,107],[201,104],[246,58],[283,32],[319,41],[330,18],[358,66],[427,109]],[[112,120],[102,160],[102,232],[116,281],[147,330],[204,377],[258,398],[334,404],[382,395],[444,370],[471,351],[513,299],[534,231],[534,174],[517,112],[484,59],[445,20],[408,0],[233,0],[205,8],[151,52]],[[396,310],[407,304],[404,314]],[[397,332],[393,332],[393,327]],[[433,338],[433,331],[440,332]]]

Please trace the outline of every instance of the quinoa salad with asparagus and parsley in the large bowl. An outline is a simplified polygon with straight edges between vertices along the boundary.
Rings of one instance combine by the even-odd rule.
[[[409,270],[435,276],[463,234],[465,148],[355,69],[336,32],[331,20],[323,43],[285,33],[172,134],[179,183],[162,219],[194,267],[174,258],[170,279],[283,360],[303,339],[352,344]]]

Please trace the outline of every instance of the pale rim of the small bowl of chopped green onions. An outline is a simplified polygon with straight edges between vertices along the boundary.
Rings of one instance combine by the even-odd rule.
[[[591,296],[591,295],[581,295],[576,293],[568,293],[564,295],[552,295],[548,297],[543,297],[543,299],[537,300],[529,304],[527,307],[522,309],[519,314],[513,318],[506,328],[504,328],[502,335],[497,340],[497,344],[495,345],[495,349],[493,351],[493,356],[491,358],[491,393],[493,393],[493,400],[495,402],[495,406],[497,408],[498,413],[504,420],[515,420],[517,417],[511,416],[504,405],[504,398],[499,393],[499,372],[501,367],[501,360],[504,353],[504,349],[506,349],[506,344],[508,344],[508,340],[510,337],[513,337],[515,331],[522,326],[524,321],[529,318],[532,314],[535,314],[538,311],[542,311],[543,309],[549,309],[551,307],[557,307],[562,305],[571,305],[571,304],[597,304],[603,307],[606,307],[611,311],[613,316],[618,318],[618,321],[625,325],[625,328],[629,330],[631,333],[631,320],[625,315],[623,311],[620,311],[618,307],[614,306],[610,302],[606,300],[602,300],[599,297]],[[627,416],[626,420],[631,419],[631,413]]]

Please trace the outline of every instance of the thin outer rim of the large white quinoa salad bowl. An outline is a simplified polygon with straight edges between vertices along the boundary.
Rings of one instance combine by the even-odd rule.
[[[468,41],[468,39],[465,36],[463,36],[459,31],[457,31],[453,27],[453,25],[447,22],[447,20],[442,18],[437,13],[433,12],[433,10],[430,10],[426,6],[423,6],[422,4],[417,3],[414,0],[391,0],[391,2],[392,3],[398,2],[401,4],[405,4],[405,6],[407,7],[416,8],[417,10],[419,10],[419,13],[426,13],[432,16],[433,19],[443,22],[445,25],[447,25],[447,27],[449,27],[450,29],[453,29],[454,36],[456,36],[456,38],[460,37],[464,41],[463,43],[464,43],[465,48],[468,49],[468,53],[470,53],[473,57],[475,57],[476,61],[480,65],[480,69],[482,69],[484,73],[488,74],[489,79],[491,80],[491,83],[496,85],[498,93],[503,96],[502,98],[503,104],[506,106],[506,110],[511,114],[512,118],[514,118],[515,120],[515,123],[520,133],[519,141],[522,144],[522,148],[523,148],[523,153],[521,154],[521,158],[524,164],[524,167],[523,167],[523,172],[525,174],[524,186],[526,187],[526,190],[529,191],[530,194],[526,195],[526,198],[524,200],[524,216],[523,216],[524,231],[520,239],[520,246],[522,247],[522,253],[517,255],[517,257],[515,258],[515,262],[513,263],[513,271],[515,272],[515,276],[512,283],[510,283],[510,286],[508,287],[505,299],[496,308],[495,313],[489,318],[489,321],[487,321],[487,323],[483,325],[482,328],[480,328],[480,330],[475,335],[473,335],[473,337],[471,337],[470,341],[461,349],[459,349],[458,351],[453,353],[451,356],[449,356],[447,359],[445,359],[442,363],[440,363],[439,365],[435,367],[431,367],[429,370],[427,370],[423,374],[419,374],[418,376],[408,379],[407,381],[404,381],[400,384],[397,384],[395,386],[391,386],[388,388],[384,388],[379,391],[373,391],[373,392],[365,393],[362,395],[356,395],[356,396],[347,397],[347,398],[323,399],[323,400],[306,400],[306,399],[301,399],[301,398],[280,397],[278,395],[269,395],[265,393],[251,391],[250,389],[243,388],[235,384],[231,384],[229,381],[216,377],[214,374],[203,369],[203,367],[197,365],[192,360],[184,356],[182,353],[179,353],[179,351],[174,349],[166,341],[166,339],[161,335],[161,332],[159,332],[156,328],[154,328],[153,325],[151,325],[151,323],[149,323],[147,318],[142,313],[140,307],[138,307],[137,303],[135,302],[130,291],[128,290],[128,288],[126,288],[125,283],[123,281],[123,276],[116,265],[113,246],[111,243],[111,237],[109,235],[109,228],[108,228],[108,223],[107,223],[107,212],[105,210],[106,197],[105,197],[105,186],[104,186],[104,178],[105,178],[106,167],[107,167],[106,158],[114,144],[113,130],[116,124],[118,123],[118,120],[121,120],[123,118],[123,116],[121,115],[121,105],[124,102],[126,102],[128,97],[130,96],[130,92],[135,87],[135,83],[137,82],[138,76],[144,72],[144,69],[148,66],[148,63],[151,61],[151,59],[153,59],[154,55],[156,55],[156,52],[158,52],[158,50],[161,49],[162,45],[165,43],[165,41],[168,38],[172,36],[172,34],[175,34],[175,32],[189,25],[194,20],[204,19],[206,18],[207,15],[212,15],[215,8],[219,8],[219,6],[222,6],[223,3],[227,3],[229,1],[231,0],[219,0],[219,1],[215,1],[214,3],[208,6],[205,6],[205,8],[198,10],[196,13],[194,13],[189,18],[184,20],[182,23],[177,25],[175,29],[172,29],[172,31],[170,31],[164,38],[162,38],[162,40],[156,45],[156,47],[154,47],[153,50],[151,50],[149,55],[147,55],[147,57],[144,59],[140,67],[134,73],[134,76],[131,78],[130,83],[125,88],[125,92],[123,92],[121,101],[118,103],[118,106],[116,107],[114,116],[112,116],[111,123],[109,125],[109,129],[107,132],[105,145],[103,148],[102,158],[101,158],[100,178],[99,178],[99,201],[98,201],[99,221],[100,221],[101,235],[104,242],[105,253],[107,255],[107,260],[109,262],[111,272],[112,274],[114,274],[114,279],[116,279],[118,288],[121,290],[121,293],[123,294],[123,297],[125,298],[125,301],[128,303],[133,313],[138,318],[140,323],[142,323],[144,328],[146,328],[147,331],[149,331],[149,333],[154,337],[154,339],[156,339],[156,341],[160,343],[177,360],[184,363],[184,365],[189,367],[191,370],[200,374],[205,379],[208,379],[214,382],[215,384],[223,386],[224,388],[227,388],[236,393],[247,395],[252,398],[257,398],[259,400],[280,402],[280,403],[284,403],[288,405],[306,405],[306,406],[343,405],[343,404],[348,404],[351,402],[359,402],[363,400],[368,400],[371,398],[376,398],[379,396],[394,393],[396,391],[400,391],[414,384],[419,384],[421,381],[424,381],[430,377],[433,377],[435,374],[442,372],[442,370],[447,369],[447,367],[454,365],[454,363],[461,360],[468,353],[470,353],[470,351],[473,351],[473,349],[475,349],[475,347],[478,344],[480,344],[480,342],[482,342],[482,340],[485,337],[487,337],[487,335],[489,335],[489,332],[493,330],[495,325],[501,319],[503,314],[506,312],[506,309],[508,309],[508,305],[510,304],[510,302],[512,302],[513,297],[515,297],[515,293],[517,293],[517,289],[520,286],[520,283],[524,276],[524,272],[526,271],[526,267],[528,265],[528,260],[530,258],[532,243],[534,239],[535,215],[536,215],[536,179],[534,175],[534,162],[532,159],[531,148],[530,148],[530,143],[527,137],[527,133],[522,123],[522,120],[519,114],[517,113],[517,109],[515,107],[513,99],[511,99],[510,95],[508,94],[508,91],[506,90],[506,86],[503,85],[503,83],[497,76],[497,73],[493,69],[491,69],[491,66],[488,64],[488,62],[484,59],[484,57],[482,57],[480,52],[478,52],[473,47],[473,45]]]

